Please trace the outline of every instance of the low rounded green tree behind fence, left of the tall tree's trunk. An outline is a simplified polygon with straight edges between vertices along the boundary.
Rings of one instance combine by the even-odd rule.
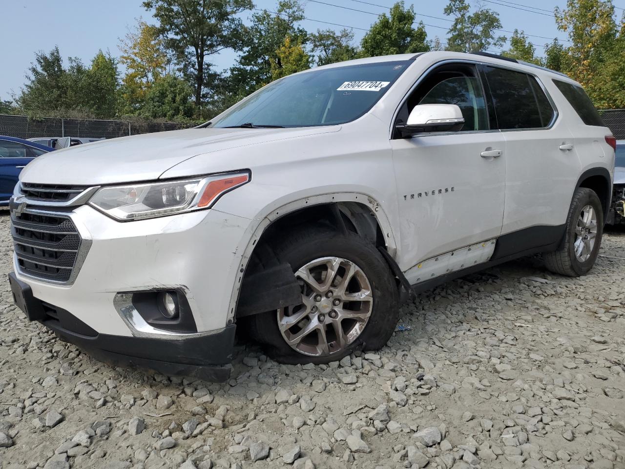
[[[189,119],[194,114],[194,89],[184,79],[167,74],[146,92],[140,114],[151,119]]]

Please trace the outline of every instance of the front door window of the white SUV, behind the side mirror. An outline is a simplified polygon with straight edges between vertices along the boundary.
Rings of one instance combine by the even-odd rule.
[[[397,116],[406,122],[417,104],[456,104],[462,111],[462,131],[489,129],[482,83],[471,64],[445,64],[434,69],[410,94]]]

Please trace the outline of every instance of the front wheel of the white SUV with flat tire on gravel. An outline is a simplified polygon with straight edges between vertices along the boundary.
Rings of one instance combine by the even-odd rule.
[[[397,324],[399,294],[395,278],[375,246],[351,233],[342,235],[327,228],[307,228],[285,236],[274,243],[273,249],[277,260],[289,263],[298,276],[302,285],[302,305],[251,317],[252,335],[266,345],[267,355],[281,363],[320,364],[341,360],[354,350],[377,350],[386,345]],[[298,273],[304,268],[310,283],[302,280],[303,274]],[[327,290],[336,296],[326,298],[326,294],[322,293],[324,290],[313,290],[311,285],[320,287],[326,283],[331,268],[334,283]],[[348,268],[351,276],[346,275]],[[346,277],[349,278],[345,295],[361,295],[369,286],[371,301],[339,300],[339,297],[345,298],[340,292]],[[360,293],[350,293],[354,291]],[[321,301],[316,301],[319,296]],[[334,301],[341,301],[340,306],[336,306]],[[344,317],[348,315],[357,315],[358,318]],[[299,317],[302,319],[295,320]],[[285,330],[286,335],[281,332],[279,321],[283,324],[293,321]],[[289,345],[286,337],[296,338],[307,330],[306,326],[315,326],[316,329],[304,335],[294,346]],[[343,346],[340,345],[337,327],[344,332]],[[320,332],[321,328],[324,328],[324,335]],[[324,346],[322,336],[326,337],[327,346]]]

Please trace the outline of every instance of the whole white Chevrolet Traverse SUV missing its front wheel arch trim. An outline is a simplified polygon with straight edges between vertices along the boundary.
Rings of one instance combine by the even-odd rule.
[[[109,361],[222,380],[235,328],[283,363],[384,346],[407,291],[532,253],[584,275],[615,140],[566,76],[489,54],[358,59],[199,128],[40,156],[12,291]]]

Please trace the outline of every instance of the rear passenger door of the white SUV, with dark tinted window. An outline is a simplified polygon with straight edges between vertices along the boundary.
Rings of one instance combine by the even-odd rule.
[[[506,194],[502,237],[514,254],[562,236],[579,176],[574,139],[537,76],[482,66],[506,140]]]

